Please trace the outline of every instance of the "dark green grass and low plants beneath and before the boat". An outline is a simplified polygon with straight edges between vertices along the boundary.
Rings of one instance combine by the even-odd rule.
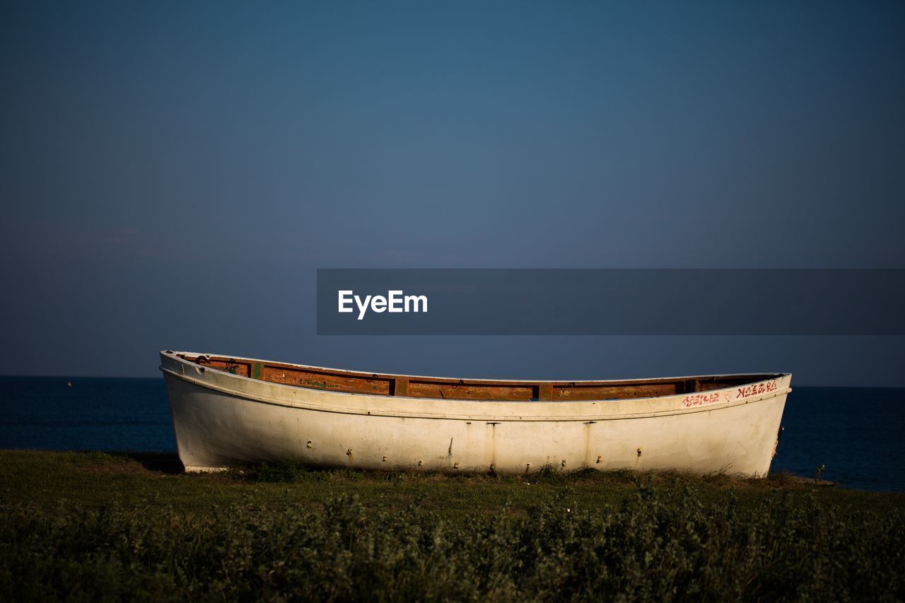
[[[176,467],[0,452],[3,598],[905,598],[903,494],[784,475]]]

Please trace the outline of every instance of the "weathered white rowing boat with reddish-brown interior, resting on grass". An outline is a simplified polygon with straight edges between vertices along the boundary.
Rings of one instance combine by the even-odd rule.
[[[523,381],[387,375],[160,352],[186,471],[314,467],[764,476],[791,375]]]

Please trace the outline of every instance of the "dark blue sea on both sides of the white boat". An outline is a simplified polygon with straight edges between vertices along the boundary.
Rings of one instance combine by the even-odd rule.
[[[0,378],[0,448],[175,452],[163,379]],[[905,491],[905,389],[795,388],[773,470]]]

